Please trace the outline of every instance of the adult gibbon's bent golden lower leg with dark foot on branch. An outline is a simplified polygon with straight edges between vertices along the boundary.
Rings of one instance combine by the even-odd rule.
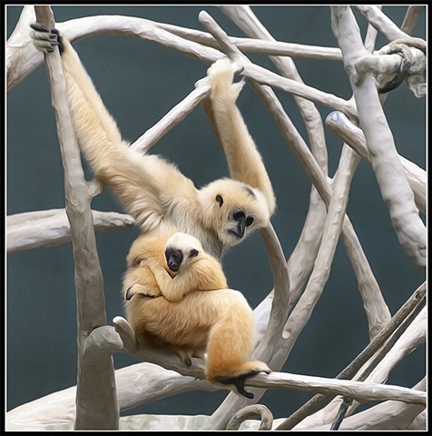
[[[255,335],[253,315],[245,309],[229,308],[211,328],[205,375],[211,382],[233,384],[239,393],[251,399],[253,393],[245,391],[244,381],[259,372],[270,373],[270,369],[264,362],[248,361]]]

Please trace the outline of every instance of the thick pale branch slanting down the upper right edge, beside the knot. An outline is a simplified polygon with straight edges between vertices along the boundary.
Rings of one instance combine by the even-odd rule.
[[[344,65],[354,92],[358,116],[365,133],[372,166],[393,227],[407,255],[426,268],[426,229],[418,216],[414,195],[398,158],[393,136],[378,99],[371,74],[361,67],[370,54],[365,50],[349,6],[332,6],[332,27],[344,55]]]

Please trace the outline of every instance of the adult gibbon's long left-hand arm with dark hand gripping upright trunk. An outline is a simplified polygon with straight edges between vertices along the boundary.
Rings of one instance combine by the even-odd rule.
[[[196,195],[193,183],[159,156],[129,149],[67,38],[42,25],[31,26],[37,48],[50,52],[59,45],[75,133],[93,173],[113,189],[142,230],[152,230],[173,203]]]

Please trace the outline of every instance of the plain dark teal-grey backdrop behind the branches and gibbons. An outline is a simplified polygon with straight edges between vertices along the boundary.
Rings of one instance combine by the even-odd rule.
[[[208,11],[222,28],[243,36],[213,6],[54,6],[57,22],[86,15],[142,16],[155,21],[201,29],[197,16]],[[254,6],[261,22],[280,41],[336,46],[328,6]],[[398,25],[406,7],[385,6]],[[20,6],[7,7],[7,36],[13,31]],[[365,20],[358,15],[363,29]],[[425,38],[423,11],[414,35]],[[386,42],[378,39],[377,46]],[[93,77],[103,101],[123,133],[133,141],[156,123],[206,74],[207,65],[152,42],[135,37],[94,36],[74,44]],[[274,71],[264,56],[250,56]],[[296,60],[299,74],[311,86],[350,97],[349,81],[341,63]],[[277,93],[299,132],[307,138],[292,97]],[[398,151],[425,168],[425,99],[417,100],[402,85],[386,102],[388,122]],[[241,112],[256,140],[278,198],[272,223],[287,257],[297,243],[309,204],[309,179],[284,144],[278,129],[259,99],[246,86],[239,99]],[[319,106],[323,116],[329,109]],[[44,66],[37,68],[7,97],[7,214],[64,207],[64,179],[54,114]],[[337,168],[340,141],[327,133],[329,174]],[[221,149],[201,108],[153,147],[177,163],[183,173],[201,186],[227,175]],[[88,174],[90,172],[86,170]],[[392,313],[424,280],[398,244],[388,210],[382,202],[374,173],[362,162],[354,177],[348,212]],[[122,211],[109,191],[93,200],[93,209]],[[97,233],[103,268],[106,312],[109,322],[123,314],[120,296],[124,259],[138,232]],[[272,278],[260,234],[256,233],[224,258],[232,288],[241,290],[255,307],[270,292]],[[16,253],[7,258],[7,409],[75,384],[75,296],[71,245]],[[368,343],[367,322],[357,282],[343,246],[323,296],[299,336],[283,370],[323,377],[335,376]],[[135,361],[115,355],[120,368]],[[425,347],[413,352],[390,375],[388,382],[415,384],[425,373]],[[128,413],[211,413],[225,391],[190,392],[145,404]],[[288,416],[309,398],[298,391],[269,391],[260,402],[276,418]]]

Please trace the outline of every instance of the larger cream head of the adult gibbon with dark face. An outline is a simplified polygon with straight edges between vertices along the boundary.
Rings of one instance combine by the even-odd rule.
[[[201,189],[199,198],[204,226],[216,231],[223,246],[241,243],[270,222],[264,195],[246,183],[216,180]]]

